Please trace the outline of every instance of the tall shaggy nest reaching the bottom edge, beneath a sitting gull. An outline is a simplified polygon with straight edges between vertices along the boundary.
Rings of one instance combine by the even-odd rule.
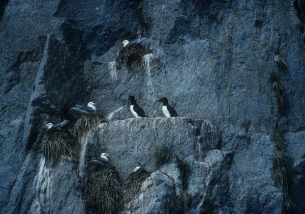
[[[118,213],[123,206],[123,193],[115,168],[104,166],[91,173],[85,196],[87,213]]]

